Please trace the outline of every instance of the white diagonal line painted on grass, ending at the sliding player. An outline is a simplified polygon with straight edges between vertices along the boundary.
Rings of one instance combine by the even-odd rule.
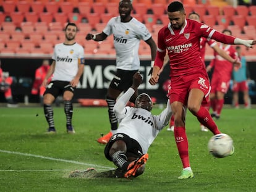
[[[96,165],[96,164],[87,164],[87,163],[79,162],[79,161],[71,161],[71,160],[66,160],[66,159],[59,159],[59,158],[53,158],[53,157],[39,156],[39,155],[23,153],[23,152],[5,151],[5,150],[1,150],[1,149],[0,149],[0,152],[5,152],[5,153],[9,153],[9,154],[17,154],[17,155],[20,155],[20,156],[38,157],[38,158],[41,158],[41,159],[48,159],[48,160],[52,160],[52,161],[67,162],[67,163],[70,163],[70,164],[86,165],[88,167],[98,167],[98,168],[101,168],[101,169],[113,169],[113,167],[105,167],[105,166]]]

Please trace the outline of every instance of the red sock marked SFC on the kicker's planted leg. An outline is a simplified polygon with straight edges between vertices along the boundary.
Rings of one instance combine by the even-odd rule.
[[[175,127],[174,136],[181,157],[183,168],[190,167],[189,164],[189,144],[187,142],[187,135],[185,127]]]

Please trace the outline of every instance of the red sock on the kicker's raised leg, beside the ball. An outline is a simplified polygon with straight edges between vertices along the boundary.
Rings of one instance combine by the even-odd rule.
[[[198,121],[207,127],[214,135],[221,133],[211,115],[205,107],[201,106],[197,114],[194,114]]]

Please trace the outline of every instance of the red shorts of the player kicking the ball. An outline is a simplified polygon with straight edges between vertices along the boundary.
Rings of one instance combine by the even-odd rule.
[[[171,86],[168,91],[168,98],[170,102],[179,101],[187,106],[187,99],[189,97],[189,91],[197,88],[203,91],[205,98],[203,102],[208,101],[211,86],[209,78],[201,73],[193,75],[182,75],[179,77],[171,78]]]

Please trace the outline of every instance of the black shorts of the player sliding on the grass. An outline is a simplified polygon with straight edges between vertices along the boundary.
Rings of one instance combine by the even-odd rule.
[[[122,141],[124,141],[124,143],[126,143],[126,148],[127,148],[126,156],[127,157],[139,158],[140,156],[142,156],[142,147],[136,140],[130,138],[128,135],[126,135],[124,133],[116,133],[113,136],[111,136],[111,138],[108,141],[108,143],[106,144],[106,147],[104,150],[105,157],[109,161],[112,161],[112,158],[109,156],[109,150],[110,150],[112,144],[114,143],[114,141],[117,141],[117,140],[122,140]]]

